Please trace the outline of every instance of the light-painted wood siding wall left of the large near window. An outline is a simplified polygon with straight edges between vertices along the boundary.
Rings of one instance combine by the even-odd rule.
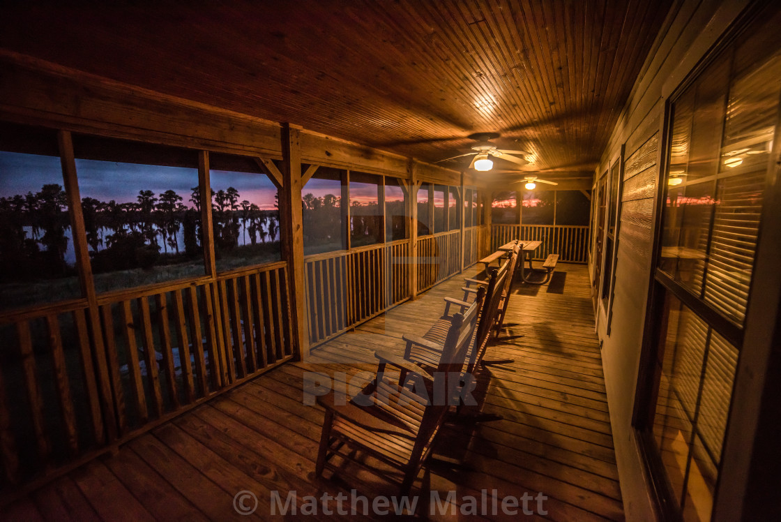
[[[694,69],[745,5],[747,2],[685,1],[673,7],[654,41],[595,173],[598,177],[607,170],[625,146],[621,227],[616,245],[615,294],[609,335],[606,328],[610,310],[597,304],[596,313],[597,334],[604,343],[605,383],[627,520],[654,520],[657,517],[649,494],[651,486],[644,477],[632,413],[651,281],[655,204],[661,189],[658,175],[664,153],[665,96]]]

